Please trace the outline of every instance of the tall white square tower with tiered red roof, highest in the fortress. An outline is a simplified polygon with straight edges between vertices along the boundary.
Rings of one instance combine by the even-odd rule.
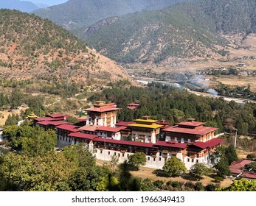
[[[119,110],[120,108],[114,103],[105,104],[103,101],[98,101],[93,107],[86,109],[86,125],[115,127]]]

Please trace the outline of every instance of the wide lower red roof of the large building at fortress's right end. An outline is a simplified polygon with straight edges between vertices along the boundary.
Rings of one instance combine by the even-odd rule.
[[[210,132],[214,132],[218,130],[218,128],[215,127],[205,127],[205,126],[199,126],[195,128],[183,128],[179,127],[178,125],[173,127],[167,127],[166,129],[162,129],[164,132],[176,132],[176,133],[184,133],[184,134],[190,134],[190,135],[207,135]]]

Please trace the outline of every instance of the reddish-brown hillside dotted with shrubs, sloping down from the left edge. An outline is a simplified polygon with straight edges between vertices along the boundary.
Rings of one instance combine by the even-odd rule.
[[[0,79],[53,77],[106,85],[128,74],[61,26],[17,10],[0,10]]]

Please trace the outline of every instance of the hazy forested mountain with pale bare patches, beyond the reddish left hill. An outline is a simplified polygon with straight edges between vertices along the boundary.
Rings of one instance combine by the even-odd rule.
[[[120,63],[159,63],[168,57],[212,56],[218,52],[215,45],[226,43],[215,32],[210,17],[194,4],[179,4],[107,21],[110,23],[101,21],[74,33]]]

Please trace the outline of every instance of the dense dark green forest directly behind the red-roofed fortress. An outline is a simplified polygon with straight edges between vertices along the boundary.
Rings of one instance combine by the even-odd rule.
[[[153,119],[169,121],[176,124],[187,118],[196,118],[204,121],[210,127],[218,127],[219,132],[238,129],[239,135],[248,135],[255,132],[256,105],[235,102],[226,102],[224,99],[196,96],[178,88],[152,82],[148,88],[113,88],[105,89],[103,93],[94,93],[89,100],[98,99],[107,102],[116,102],[122,108],[118,115],[119,121],[134,121],[142,116],[151,116]],[[128,110],[127,104],[139,101],[141,107],[137,110]]]

